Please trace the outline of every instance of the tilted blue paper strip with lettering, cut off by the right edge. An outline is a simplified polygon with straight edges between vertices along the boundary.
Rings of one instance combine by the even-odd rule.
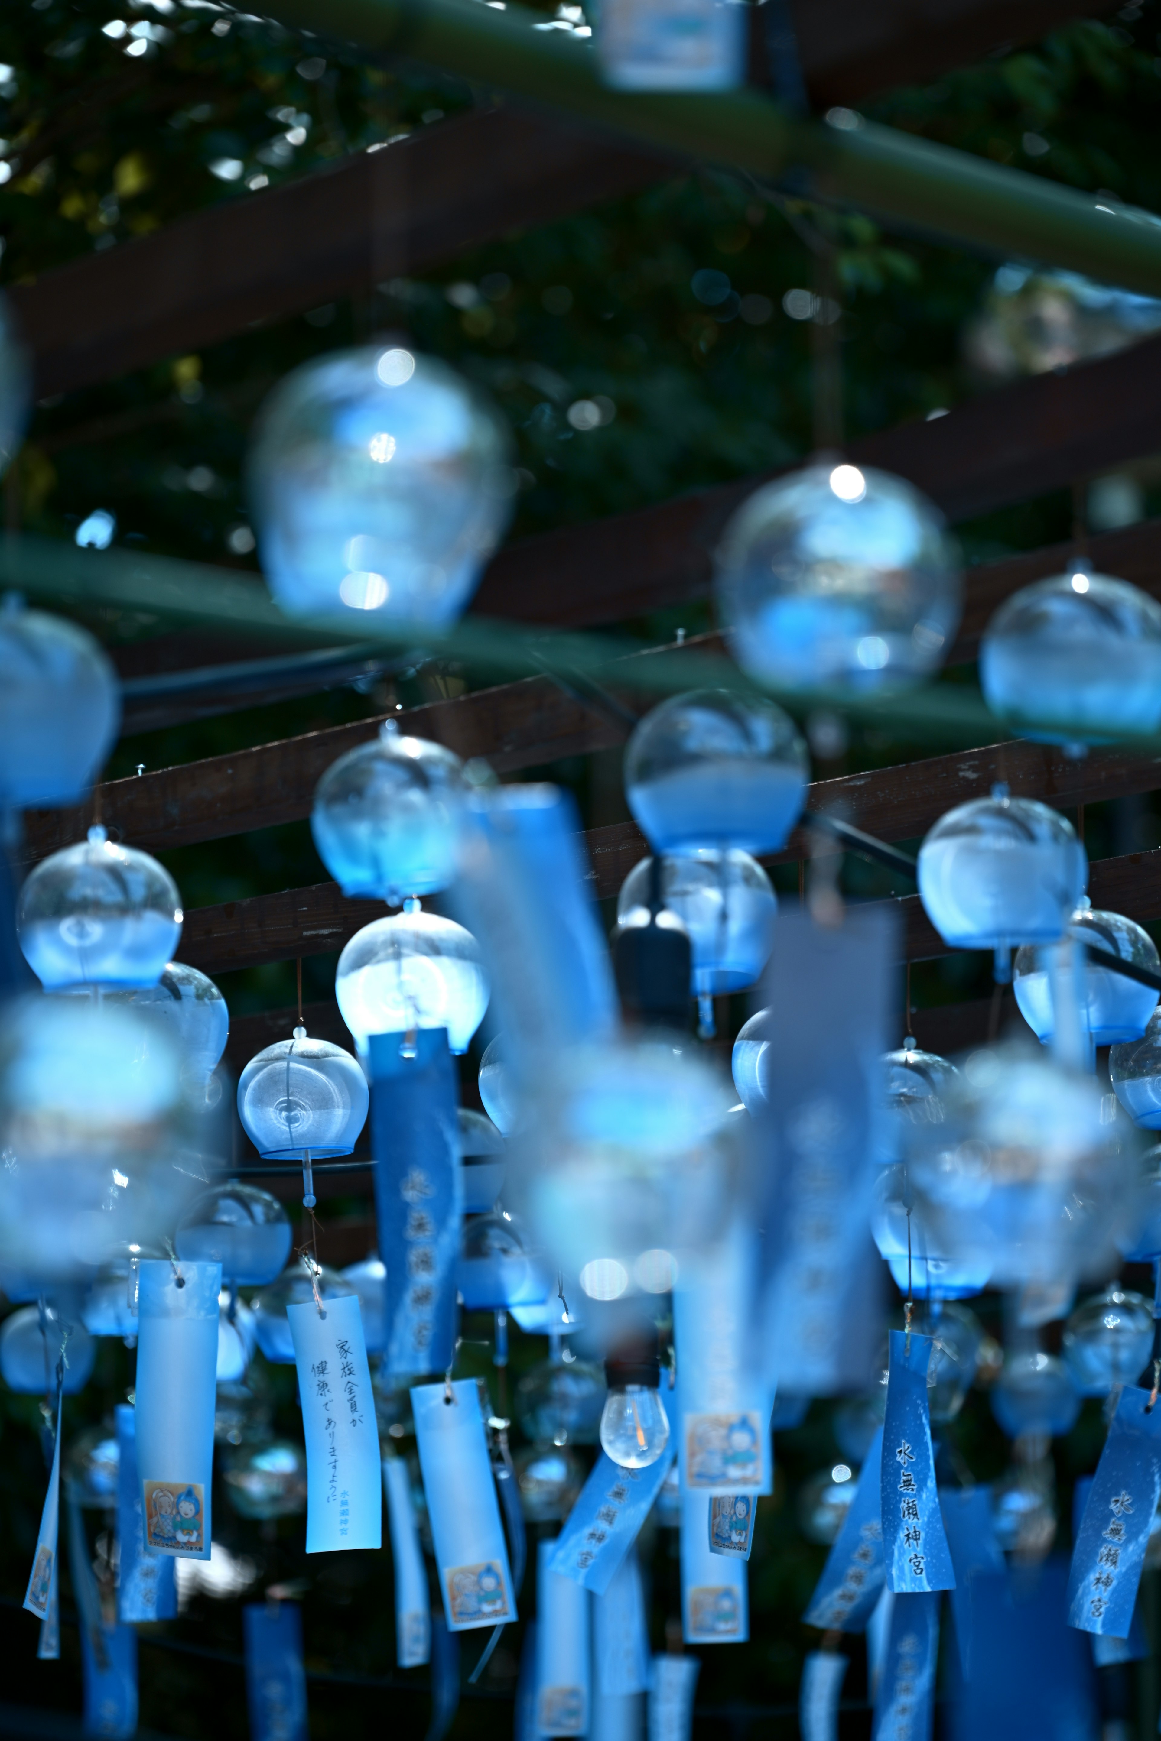
[[[1161,1497],[1161,1408],[1126,1384],[1109,1424],[1069,1572],[1069,1626],[1128,1638]]]

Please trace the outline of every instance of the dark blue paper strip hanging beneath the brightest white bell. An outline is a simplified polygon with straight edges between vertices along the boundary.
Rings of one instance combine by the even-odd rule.
[[[444,1027],[371,1034],[371,1135],[392,1377],[442,1372],[456,1344],[463,1182],[456,1071]]]

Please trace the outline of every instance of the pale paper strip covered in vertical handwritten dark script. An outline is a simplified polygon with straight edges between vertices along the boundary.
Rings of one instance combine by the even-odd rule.
[[[306,1438],[306,1553],[383,1544],[379,1428],[359,1295],[285,1309]]]

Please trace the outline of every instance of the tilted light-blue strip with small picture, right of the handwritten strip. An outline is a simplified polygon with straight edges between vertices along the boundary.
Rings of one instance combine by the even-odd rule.
[[[447,1626],[470,1631],[513,1621],[512,1569],[477,1382],[418,1384],[411,1410]]]

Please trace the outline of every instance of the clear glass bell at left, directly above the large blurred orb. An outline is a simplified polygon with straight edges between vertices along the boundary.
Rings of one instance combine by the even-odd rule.
[[[45,991],[157,985],[181,937],[181,895],[157,858],[89,829],[42,858],[16,902],[16,931]]]

